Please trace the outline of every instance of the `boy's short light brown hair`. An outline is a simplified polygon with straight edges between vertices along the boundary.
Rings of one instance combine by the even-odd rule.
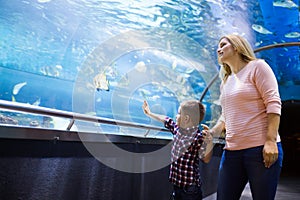
[[[181,103],[181,111],[189,115],[192,122],[198,125],[205,115],[205,108],[203,104],[198,100],[187,100]]]

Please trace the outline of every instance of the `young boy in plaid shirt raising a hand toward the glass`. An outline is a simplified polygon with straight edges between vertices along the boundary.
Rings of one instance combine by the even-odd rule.
[[[208,163],[212,156],[212,136],[204,135],[199,124],[205,109],[200,101],[187,100],[180,104],[176,122],[173,119],[152,113],[148,102],[144,101],[144,113],[161,121],[173,134],[169,181],[173,184],[175,200],[202,199],[199,172],[200,159]],[[208,130],[206,125],[202,127]],[[208,152],[208,153],[207,153]]]

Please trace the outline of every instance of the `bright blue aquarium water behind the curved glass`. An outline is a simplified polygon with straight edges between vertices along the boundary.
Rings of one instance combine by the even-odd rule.
[[[299,42],[299,0],[0,0],[0,98],[157,125],[142,101],[175,117],[179,102],[199,99],[227,33],[254,49]],[[300,99],[299,55],[299,46],[257,53],[283,100]],[[99,73],[108,91],[95,89]],[[208,124],[219,116],[218,84],[203,99]]]

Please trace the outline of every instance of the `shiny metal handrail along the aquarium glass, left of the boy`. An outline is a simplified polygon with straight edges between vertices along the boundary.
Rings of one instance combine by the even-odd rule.
[[[40,114],[40,115],[51,116],[51,117],[61,117],[61,118],[71,119],[68,127],[66,128],[67,131],[71,130],[75,120],[79,120],[79,121],[87,121],[87,122],[96,122],[96,123],[101,123],[101,124],[119,125],[119,126],[125,126],[125,127],[146,129],[147,133],[149,133],[150,130],[169,132],[169,130],[167,130],[167,129],[156,127],[156,126],[134,124],[134,123],[127,122],[127,121],[113,120],[113,119],[109,119],[109,118],[96,117],[96,116],[90,116],[90,115],[85,115],[85,114],[80,114],[80,113],[61,111],[61,110],[56,110],[56,109],[50,109],[50,108],[34,106],[34,105],[29,105],[29,104],[24,104],[24,103],[18,103],[18,102],[5,101],[5,100],[0,100],[0,108],[18,111],[18,112],[26,112],[26,113]],[[146,134],[145,134],[145,136],[146,136]]]

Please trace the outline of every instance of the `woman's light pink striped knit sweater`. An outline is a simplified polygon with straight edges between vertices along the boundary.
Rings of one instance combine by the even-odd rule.
[[[225,149],[239,150],[264,145],[267,113],[281,114],[275,75],[261,59],[249,62],[221,84],[222,121],[226,125]],[[277,142],[280,141],[277,134]]]

